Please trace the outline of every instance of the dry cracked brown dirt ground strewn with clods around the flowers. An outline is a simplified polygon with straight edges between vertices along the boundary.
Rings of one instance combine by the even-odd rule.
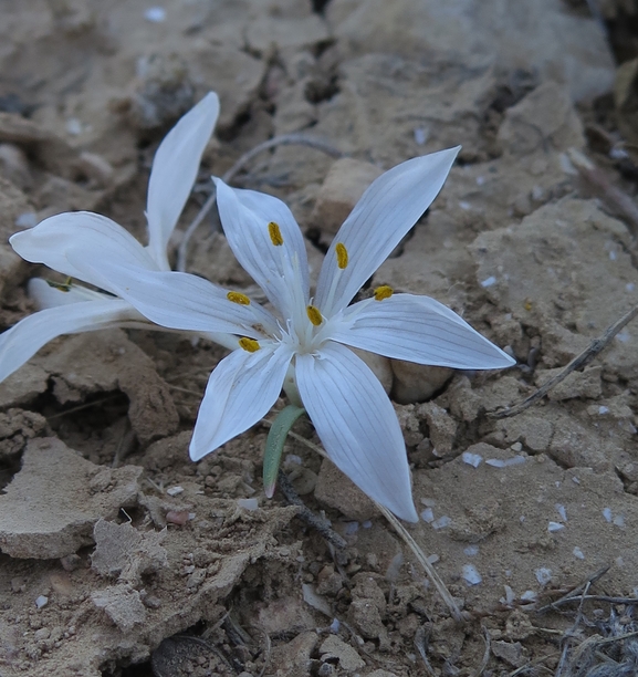
[[[0,676],[638,675],[638,324],[524,399],[638,303],[635,0],[3,0],[0,324],[50,271],[7,243],[65,210],[145,238],[150,162],[206,92],[216,136],[174,238],[221,175],[293,209],[314,272],[378,174],[461,144],[373,284],[431,295],[515,355],[502,373],[379,361],[421,521],[463,619],[300,421],[278,491],[258,425],[188,442],[223,350],[109,330],[0,384]],[[589,163],[589,164],[587,164]],[[213,213],[187,269],[244,289]],[[56,278],[55,278],[56,279]],[[279,403],[283,406],[284,402]]]

